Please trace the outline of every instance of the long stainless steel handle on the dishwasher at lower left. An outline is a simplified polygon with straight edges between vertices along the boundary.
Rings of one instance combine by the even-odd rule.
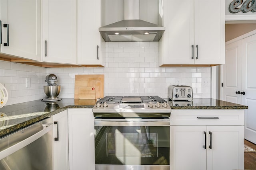
[[[42,127],[43,129],[41,131],[35,133],[34,135],[31,135],[30,137],[24,139],[23,141],[20,141],[19,143],[16,143],[15,145],[8,147],[7,149],[0,151],[0,160],[16,152],[17,150],[20,150],[23,147],[26,147],[30,143],[36,141],[37,139],[39,139],[40,137],[42,137],[43,135],[51,131],[53,125],[52,123],[42,123]]]

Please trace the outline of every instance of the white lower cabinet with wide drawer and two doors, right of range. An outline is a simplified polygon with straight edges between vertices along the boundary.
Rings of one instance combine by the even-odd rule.
[[[244,110],[173,109],[170,169],[244,169],[243,117]]]

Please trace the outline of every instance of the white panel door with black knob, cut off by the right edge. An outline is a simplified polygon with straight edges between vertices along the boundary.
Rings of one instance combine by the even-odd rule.
[[[256,34],[242,40],[242,104],[245,111],[245,139],[256,143]]]

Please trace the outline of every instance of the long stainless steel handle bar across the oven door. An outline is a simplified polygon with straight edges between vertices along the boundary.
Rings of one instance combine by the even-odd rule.
[[[170,119],[94,119],[96,126],[170,126]]]

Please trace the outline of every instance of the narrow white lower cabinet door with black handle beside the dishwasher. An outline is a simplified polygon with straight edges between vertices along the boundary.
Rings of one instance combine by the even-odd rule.
[[[52,116],[53,170],[68,170],[68,110]]]

